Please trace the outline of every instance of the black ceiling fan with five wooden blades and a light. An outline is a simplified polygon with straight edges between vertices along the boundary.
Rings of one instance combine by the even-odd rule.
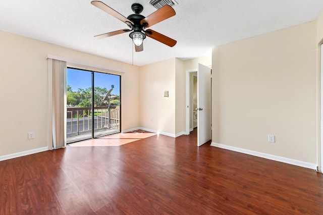
[[[174,16],[176,13],[174,9],[169,6],[165,5],[164,7],[158,9],[157,11],[153,12],[147,17],[144,17],[140,15],[140,13],[143,10],[142,5],[135,3],[132,4],[131,9],[134,12],[134,14],[129,15],[127,18],[115,11],[114,9],[110,8],[109,6],[105,5],[104,3],[100,1],[92,1],[92,5],[95,7],[101,9],[102,11],[116,17],[117,19],[121,20],[122,22],[126,23],[129,28],[131,29],[121,29],[117,31],[112,31],[109,33],[104,33],[100,35],[94,36],[95,38],[101,39],[105,37],[110,37],[126,32],[130,32],[129,34],[130,38],[132,38],[134,44],[135,44],[135,50],[136,51],[142,51],[143,50],[143,40],[146,38],[146,36],[155,39],[161,43],[164,43],[168,46],[173,47],[177,41],[165,36],[161,33],[158,33],[156,31],[153,31],[151,29],[146,29],[147,27],[150,27],[154,24],[157,24],[161,21],[164,21],[172,16]]]

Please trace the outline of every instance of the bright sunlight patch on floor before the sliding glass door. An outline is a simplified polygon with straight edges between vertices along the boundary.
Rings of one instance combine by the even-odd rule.
[[[81,142],[71,143],[69,146],[82,147],[82,146],[120,146],[131,143],[140,139],[157,135],[155,133],[121,133],[96,139],[84,140]]]

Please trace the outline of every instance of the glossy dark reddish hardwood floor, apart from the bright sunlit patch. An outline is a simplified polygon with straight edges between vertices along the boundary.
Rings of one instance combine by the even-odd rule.
[[[0,214],[323,214],[323,177],[196,134],[0,162]]]

